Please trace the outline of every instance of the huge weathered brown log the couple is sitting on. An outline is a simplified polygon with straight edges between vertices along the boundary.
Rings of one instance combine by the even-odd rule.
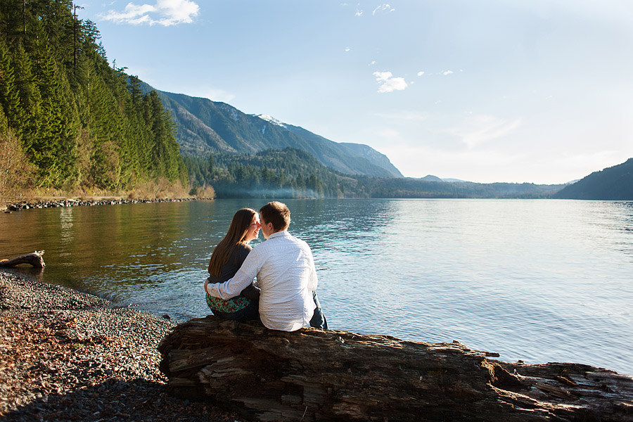
[[[174,395],[257,421],[633,421],[630,376],[499,362],[456,342],[207,316],[176,326],[158,350]]]

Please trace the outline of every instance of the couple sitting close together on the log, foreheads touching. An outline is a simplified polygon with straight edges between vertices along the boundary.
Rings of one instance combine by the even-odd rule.
[[[205,281],[207,305],[215,315],[236,321],[259,319],[280,331],[308,324],[328,328],[316,298],[312,251],[288,233],[289,225],[290,210],[277,201],[264,205],[259,215],[250,208],[235,213],[211,255]],[[251,248],[260,229],[266,241]]]

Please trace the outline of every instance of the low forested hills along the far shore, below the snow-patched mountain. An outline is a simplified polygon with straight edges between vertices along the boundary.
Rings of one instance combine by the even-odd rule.
[[[194,186],[218,198],[549,198],[561,185],[447,183],[344,174],[296,148],[184,158]]]

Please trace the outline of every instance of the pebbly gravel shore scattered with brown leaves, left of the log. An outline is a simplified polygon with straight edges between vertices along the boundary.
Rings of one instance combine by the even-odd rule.
[[[172,321],[0,272],[3,421],[243,421],[167,394]]]

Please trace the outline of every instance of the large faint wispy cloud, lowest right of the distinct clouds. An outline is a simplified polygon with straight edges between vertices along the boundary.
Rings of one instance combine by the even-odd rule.
[[[468,149],[472,149],[492,139],[508,136],[520,127],[521,122],[520,118],[504,120],[492,115],[473,115],[443,132],[461,138]]]

